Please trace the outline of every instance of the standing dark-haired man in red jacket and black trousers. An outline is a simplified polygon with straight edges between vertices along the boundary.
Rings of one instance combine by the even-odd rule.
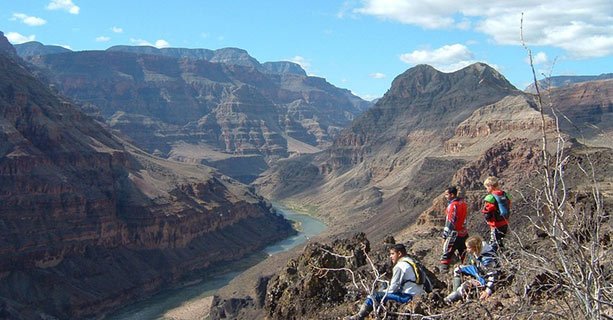
[[[466,250],[466,238],[468,238],[468,230],[466,229],[466,202],[458,197],[458,189],[449,187],[445,190],[445,199],[449,201],[445,210],[445,229],[443,230],[443,255],[439,270],[447,272],[449,264],[457,251],[457,257],[460,262],[464,258]]]

